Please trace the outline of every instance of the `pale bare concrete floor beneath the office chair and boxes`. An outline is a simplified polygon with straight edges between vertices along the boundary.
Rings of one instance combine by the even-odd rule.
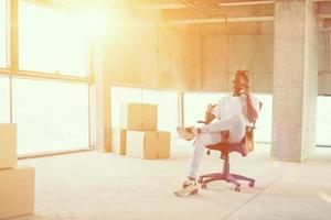
[[[174,141],[171,160],[146,161],[110,153],[23,160],[34,166],[35,213],[17,220],[213,220],[331,219],[331,148],[305,163],[269,160],[269,145],[248,157],[232,154],[232,172],[256,178],[256,187],[216,182],[196,196],[178,198],[191,143]],[[205,156],[201,173],[221,169],[218,154]]]

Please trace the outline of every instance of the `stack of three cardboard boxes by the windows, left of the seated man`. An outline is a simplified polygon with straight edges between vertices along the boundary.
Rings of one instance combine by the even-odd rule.
[[[113,129],[113,150],[139,158],[169,158],[170,132],[158,131],[158,106],[124,103],[121,129]]]

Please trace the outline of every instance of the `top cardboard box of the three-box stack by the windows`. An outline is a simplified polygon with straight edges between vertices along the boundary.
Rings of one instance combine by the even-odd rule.
[[[158,106],[124,103],[121,106],[121,129],[156,131],[158,129]]]

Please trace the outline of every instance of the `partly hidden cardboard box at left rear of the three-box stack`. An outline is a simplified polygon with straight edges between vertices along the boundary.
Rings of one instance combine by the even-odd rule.
[[[111,151],[119,155],[126,155],[127,130],[111,130]]]

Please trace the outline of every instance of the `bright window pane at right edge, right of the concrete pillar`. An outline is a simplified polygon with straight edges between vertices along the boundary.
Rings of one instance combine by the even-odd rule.
[[[317,124],[316,144],[331,146],[331,97],[318,97],[317,100]]]

